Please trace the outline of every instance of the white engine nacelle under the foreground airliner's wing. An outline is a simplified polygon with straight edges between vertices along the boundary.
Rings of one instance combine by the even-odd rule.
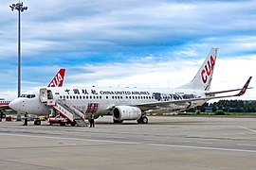
[[[118,121],[137,120],[141,117],[141,110],[137,107],[117,106],[113,110],[113,118]]]

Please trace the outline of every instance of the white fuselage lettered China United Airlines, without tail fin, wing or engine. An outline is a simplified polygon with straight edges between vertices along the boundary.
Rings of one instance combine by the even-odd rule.
[[[90,112],[94,110],[97,117],[104,114],[112,114],[111,109],[116,106],[137,106],[162,101],[172,101],[190,98],[200,98],[205,91],[196,91],[188,89],[150,89],[150,88],[74,88],[74,87],[54,87],[42,88],[46,100],[65,100],[74,107]],[[42,102],[41,90],[27,92],[10,103],[14,110],[27,112],[29,114],[43,115],[47,114],[49,107]],[[44,98],[44,97],[43,97]],[[205,100],[199,100],[182,105],[166,105],[164,107],[144,108],[146,110],[185,110],[198,105],[202,105]],[[97,105],[97,108],[90,108]]]

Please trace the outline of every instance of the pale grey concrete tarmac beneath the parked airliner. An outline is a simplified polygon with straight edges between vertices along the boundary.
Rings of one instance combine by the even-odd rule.
[[[256,169],[256,117],[149,116],[96,127],[0,122],[0,169]]]

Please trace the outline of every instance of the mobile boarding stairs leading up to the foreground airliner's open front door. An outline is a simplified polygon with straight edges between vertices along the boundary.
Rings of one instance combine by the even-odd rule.
[[[71,122],[71,125],[77,125],[79,127],[87,127],[85,119],[87,118],[86,114],[74,107],[72,104],[68,103],[65,100],[48,100],[47,106],[52,106],[54,110],[59,112],[62,116],[68,119]]]

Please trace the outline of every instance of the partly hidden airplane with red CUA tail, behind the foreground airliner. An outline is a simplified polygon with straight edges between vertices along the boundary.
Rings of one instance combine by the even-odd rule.
[[[49,82],[47,87],[62,87],[64,83],[64,72],[65,69],[60,69],[55,76],[53,76],[52,80]],[[23,95],[25,96],[25,95]],[[26,96],[29,97],[29,96]],[[3,114],[4,111],[10,110],[9,103],[10,101],[14,100],[16,97],[14,95],[6,95],[0,97],[0,112],[1,117],[4,118],[5,114]]]

